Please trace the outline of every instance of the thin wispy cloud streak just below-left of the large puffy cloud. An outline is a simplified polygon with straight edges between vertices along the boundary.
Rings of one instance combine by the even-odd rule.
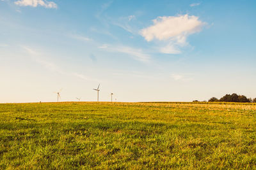
[[[102,45],[99,46],[99,48],[103,48],[107,50],[108,52],[120,52],[125,53],[127,55],[131,55],[131,57],[135,60],[139,60],[141,62],[149,62],[150,61],[150,55],[147,53],[144,53],[143,50],[139,48],[132,48],[130,46],[109,46],[109,45]]]

